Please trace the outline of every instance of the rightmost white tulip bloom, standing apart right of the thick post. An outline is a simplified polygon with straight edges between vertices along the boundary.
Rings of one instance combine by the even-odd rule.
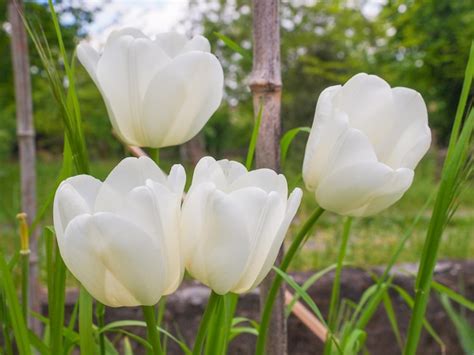
[[[418,92],[357,74],[321,93],[303,178],[321,207],[373,215],[403,196],[430,144],[428,113]]]

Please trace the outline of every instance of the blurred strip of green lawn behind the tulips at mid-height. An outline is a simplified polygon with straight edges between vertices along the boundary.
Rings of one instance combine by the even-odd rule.
[[[297,154],[295,154],[297,155]],[[117,164],[118,158],[110,160],[91,161],[92,175],[104,179],[110,170]],[[168,171],[172,162],[166,161],[164,170]],[[292,164],[290,164],[292,163]],[[301,180],[296,176],[300,172],[299,162],[288,161],[286,173],[289,181]],[[38,198],[45,201],[51,193],[56,176],[60,169],[60,161],[40,158],[37,164]],[[373,266],[386,264],[402,237],[406,226],[422,208],[432,191],[436,188],[438,174],[436,158],[430,153],[416,170],[415,181],[405,196],[394,206],[372,218],[355,219],[351,231],[346,261],[359,266]],[[191,172],[188,171],[188,180]],[[290,174],[293,175],[290,176]],[[474,189],[470,186],[461,195],[457,213],[450,222],[443,236],[440,249],[440,259],[468,259],[474,255]],[[18,248],[19,240],[16,237],[15,215],[19,208],[19,170],[17,162],[4,162],[0,166],[0,243],[9,254]],[[306,217],[316,206],[313,195],[305,191],[300,212],[296,217],[292,231],[304,222]],[[419,260],[426,236],[426,228],[430,218],[430,211],[426,211],[419,225],[415,228],[412,238],[401,257],[400,262],[416,262]],[[51,224],[51,218],[46,224]],[[297,270],[320,269],[328,266],[337,258],[338,238],[342,233],[342,218],[325,213],[301,253],[292,263]],[[290,238],[289,238],[290,239]]]

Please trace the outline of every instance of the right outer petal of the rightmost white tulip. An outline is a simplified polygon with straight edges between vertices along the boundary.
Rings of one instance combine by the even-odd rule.
[[[398,121],[391,133],[391,150],[385,162],[393,168],[415,169],[431,144],[428,111],[421,95],[415,90],[392,90]]]

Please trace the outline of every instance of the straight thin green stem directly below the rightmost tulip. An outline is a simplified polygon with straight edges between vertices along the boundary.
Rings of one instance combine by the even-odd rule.
[[[332,292],[331,292],[331,302],[329,305],[329,330],[332,334],[335,332],[336,327],[336,319],[337,319],[337,307],[339,304],[339,294],[341,290],[341,274],[342,274],[342,266],[344,263],[344,258],[347,252],[347,244],[349,241],[349,235],[352,225],[352,217],[347,217],[346,221],[344,222],[344,230],[342,232],[342,240],[341,246],[339,249],[339,255],[337,257],[337,266],[336,266],[336,273],[334,276],[334,283],[332,285]],[[324,354],[331,353],[331,345],[332,341],[326,342],[326,346],[324,348]]]

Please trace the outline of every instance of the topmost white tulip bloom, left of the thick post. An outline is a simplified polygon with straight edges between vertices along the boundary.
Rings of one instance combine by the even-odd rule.
[[[219,107],[222,66],[209,41],[178,33],[150,39],[126,28],[101,54],[87,43],[77,56],[99,88],[116,134],[127,144],[166,147],[193,138]]]

